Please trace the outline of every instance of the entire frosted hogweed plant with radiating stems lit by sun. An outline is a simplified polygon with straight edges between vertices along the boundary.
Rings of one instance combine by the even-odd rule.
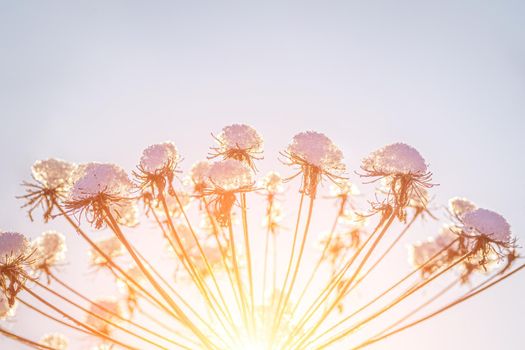
[[[263,139],[252,127],[227,126],[214,139],[207,159],[187,175],[172,142],[146,148],[131,176],[115,164],[37,161],[20,196],[29,218],[41,210],[44,222],[70,225],[67,239],[86,242],[94,273],[111,276],[119,293],[86,295],[59,276],[67,269],[63,234],[46,231],[31,242],[2,232],[0,318],[14,317],[22,305],[93,339],[90,346],[99,350],[322,349],[341,342],[361,349],[524,267],[515,266],[517,245],[501,215],[453,198],[441,231],[410,247],[410,272],[366,290],[360,305],[356,290],[414,223],[436,219],[432,173],[419,152],[396,143],[365,157],[356,173],[376,187],[366,201],[347,178],[342,151],[322,133],[292,138],[281,152],[284,177],[258,176]],[[298,195],[290,195],[294,188]],[[334,202],[334,221],[316,237],[312,221],[327,219],[315,211],[323,201]],[[262,220],[249,213],[256,202]],[[284,214],[291,220],[285,223]],[[173,274],[134,242],[131,232],[143,227],[156,227],[164,243],[153,248],[167,252],[162,265]],[[93,231],[106,235],[95,238]],[[420,302],[423,290],[432,293]],[[385,316],[392,321],[373,322]],[[56,333],[41,339],[5,327],[0,333],[36,349],[69,343]]]

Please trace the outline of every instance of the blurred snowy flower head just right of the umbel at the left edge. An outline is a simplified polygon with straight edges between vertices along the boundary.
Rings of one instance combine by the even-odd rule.
[[[34,253],[32,266],[47,269],[64,261],[66,257],[66,238],[57,231],[45,231],[32,243]]]

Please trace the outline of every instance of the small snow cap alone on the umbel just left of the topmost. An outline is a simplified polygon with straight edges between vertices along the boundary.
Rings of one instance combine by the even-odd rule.
[[[179,151],[173,142],[151,145],[142,152],[140,168],[145,173],[156,174],[173,171],[180,161]]]

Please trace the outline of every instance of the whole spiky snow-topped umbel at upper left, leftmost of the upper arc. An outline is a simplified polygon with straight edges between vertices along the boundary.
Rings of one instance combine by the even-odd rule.
[[[53,215],[57,201],[65,199],[74,182],[77,165],[64,160],[50,158],[36,161],[32,168],[34,182],[24,182],[26,194],[20,196],[25,200],[23,207],[28,208],[28,215],[33,220],[33,211],[39,206],[48,222]]]

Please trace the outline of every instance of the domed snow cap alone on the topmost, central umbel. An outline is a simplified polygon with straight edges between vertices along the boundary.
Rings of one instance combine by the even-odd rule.
[[[222,152],[243,150],[259,153],[263,147],[263,139],[257,130],[246,124],[225,126],[217,140]]]

